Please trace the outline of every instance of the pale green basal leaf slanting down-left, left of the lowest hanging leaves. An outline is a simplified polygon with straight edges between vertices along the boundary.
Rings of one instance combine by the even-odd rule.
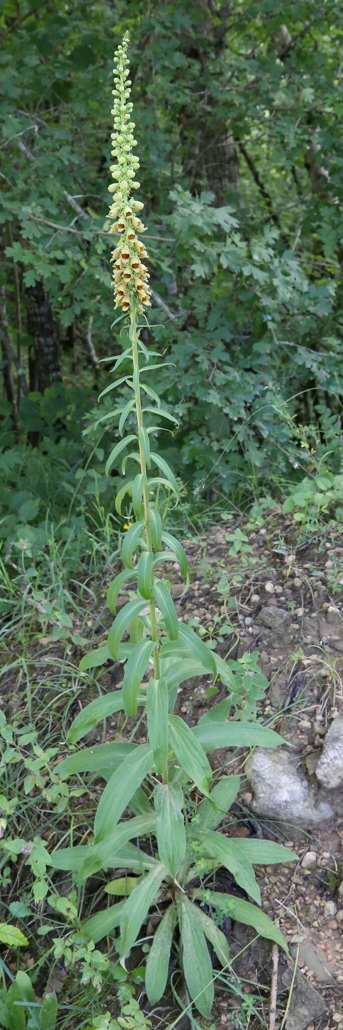
[[[135,887],[135,890],[125,902],[121,918],[121,940],[117,946],[119,954],[123,957],[128,955],[130,949],[135,943],[143,920],[159,894],[165,876],[165,867],[162,862],[159,862],[156,868],[151,869],[138,886]]]

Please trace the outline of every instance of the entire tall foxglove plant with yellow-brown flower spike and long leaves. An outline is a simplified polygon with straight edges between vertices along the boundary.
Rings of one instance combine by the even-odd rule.
[[[139,188],[139,161],[134,153],[128,43],[126,35],[114,58],[111,138],[115,161],[111,166],[114,182],[109,186],[113,194],[109,213],[113,220],[110,232],[119,234],[112,253],[114,303],[122,309],[119,317],[130,342],[114,360],[112,371],[116,372],[122,362],[129,362],[130,372],[111,382],[104,393],[124,381],[130,389],[123,410],[112,412],[118,416],[121,439],[108,457],[106,473],[122,453],[124,473],[129,459],[136,462],[138,470],[115,501],[121,514],[124,497],[129,495],[134,522],[124,537],[124,569],[108,588],[108,607],[114,616],[108,641],[83,658],[80,665],[85,671],[111,659],[123,661],[125,667],[122,688],[88,705],[74,720],[68,741],[75,744],[114,712],[124,711],[132,718],[138,710],[146,726],[146,741],[135,744],[131,737],[84,748],[60,764],[62,777],[93,771],[107,782],[96,812],[92,843],[55,851],[52,863],[56,868],[74,870],[80,881],[100,869],[122,870],[105,890],[124,899],[89,919],[83,924],[84,935],[98,941],[118,928],[115,948],[124,962],[142,934],[149,909],[157,907],[161,920],[145,974],[149,1002],[158,1002],[165,991],[175,941],[187,995],[199,1011],[209,1017],[213,972],[207,941],[222,966],[229,964],[230,953],[217,921],[205,915],[204,903],[210,911],[231,915],[286,947],[278,928],[258,907],[261,896],[252,863],[288,861],[295,856],[277,844],[229,838],[218,829],[237,795],[240,778],[222,776],[213,785],[207,754],[233,746],[273,748],[282,741],[260,724],[228,721],[236,689],[235,673],[230,662],[225,662],[180,621],[163,575],[165,563],[176,561],[187,579],[187,559],[179,541],[163,528],[153,500],[161,487],[177,496],[171,469],[150,447],[161,421],[176,419],[162,408],[146,381],[149,371],[161,363],[159,354],[148,353],[140,335],[150,294],[144,264],[147,254],[139,238],[144,232],[138,214],[143,205],[133,199],[133,191]],[[151,357],[158,362],[151,364]],[[132,412],[135,432],[124,436]],[[134,596],[116,614],[116,600],[125,584],[130,585]],[[127,631],[130,637],[124,641]],[[180,684],[204,675],[213,681],[219,679],[229,694],[192,729],[174,714],[176,696]],[[150,850],[146,845],[141,847],[144,836],[152,842]],[[220,865],[235,879],[240,896],[215,891],[215,869]],[[245,900],[244,893],[255,904]]]

